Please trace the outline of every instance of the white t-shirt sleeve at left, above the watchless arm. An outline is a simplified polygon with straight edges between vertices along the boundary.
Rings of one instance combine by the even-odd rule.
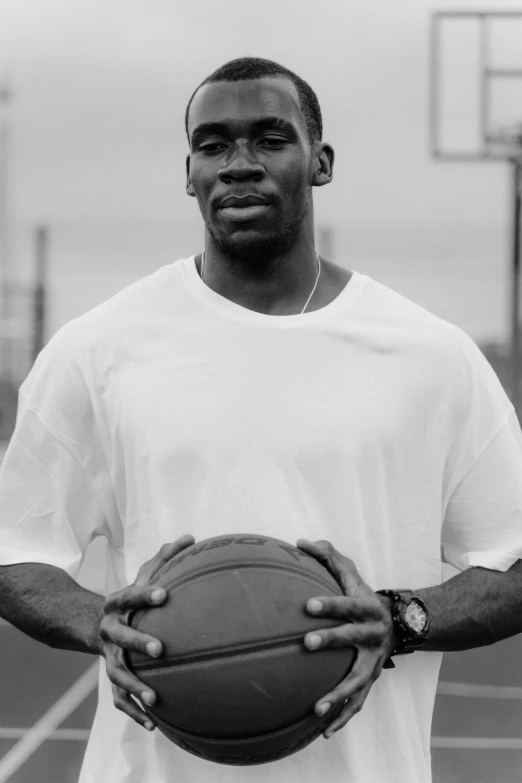
[[[0,565],[46,563],[76,578],[90,541],[118,536],[92,393],[67,330],[20,387],[0,468]]]

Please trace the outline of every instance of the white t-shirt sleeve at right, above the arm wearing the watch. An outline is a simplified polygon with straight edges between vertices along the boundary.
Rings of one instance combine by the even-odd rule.
[[[522,558],[522,432],[489,362],[471,338],[464,349],[465,381],[446,461],[442,555],[461,571],[507,571]]]

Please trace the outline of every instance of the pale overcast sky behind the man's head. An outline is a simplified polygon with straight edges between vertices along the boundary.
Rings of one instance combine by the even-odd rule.
[[[319,97],[336,162],[333,182],[314,194],[318,218],[502,222],[505,165],[428,156],[429,21],[432,10],[455,6],[0,0],[0,71],[16,93],[12,211],[30,220],[196,219],[185,194],[186,104],[223,63],[259,56],[294,70]],[[522,2],[502,7],[522,11]]]

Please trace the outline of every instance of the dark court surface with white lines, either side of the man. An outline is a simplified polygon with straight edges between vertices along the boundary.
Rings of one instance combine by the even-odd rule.
[[[95,574],[83,583],[96,589],[89,581]],[[99,659],[53,650],[2,621],[0,645],[0,783],[76,783]],[[433,783],[522,783],[521,662],[522,635],[444,655]]]

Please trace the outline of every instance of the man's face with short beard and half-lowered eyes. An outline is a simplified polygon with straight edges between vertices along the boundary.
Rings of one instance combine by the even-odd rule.
[[[188,132],[187,193],[197,197],[221,251],[254,261],[292,247],[313,222],[318,167],[294,84],[280,78],[207,84],[190,107]],[[222,205],[249,194],[267,203]]]

